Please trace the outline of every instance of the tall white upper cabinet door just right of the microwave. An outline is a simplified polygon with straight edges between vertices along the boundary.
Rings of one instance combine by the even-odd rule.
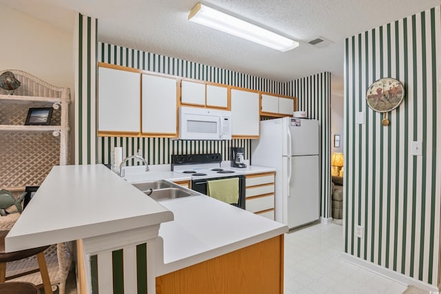
[[[232,136],[258,138],[260,129],[259,93],[231,90]]]

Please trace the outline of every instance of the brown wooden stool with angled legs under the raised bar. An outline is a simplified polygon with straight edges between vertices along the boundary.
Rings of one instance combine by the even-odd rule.
[[[0,283],[4,283],[6,281],[6,262],[14,262],[16,260],[22,260],[23,258],[29,258],[32,255],[37,255],[41,280],[43,281],[44,293],[52,294],[52,286],[50,285],[48,266],[46,266],[46,261],[43,253],[43,251],[48,249],[49,246],[42,246],[38,248],[5,253],[5,237],[6,235],[8,235],[8,233],[9,231],[0,231]],[[34,271],[21,273],[20,275],[26,275],[28,273],[34,273]]]

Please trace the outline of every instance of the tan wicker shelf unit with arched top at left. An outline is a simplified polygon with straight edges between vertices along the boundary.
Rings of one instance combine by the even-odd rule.
[[[21,70],[3,70],[0,74],[6,71],[12,72],[21,85],[13,95],[0,89],[0,189],[10,189],[18,196],[26,186],[41,185],[54,165],[70,162],[70,89],[55,87]],[[24,125],[30,107],[53,107],[50,125]],[[14,208],[8,211],[8,216],[0,216],[0,229],[11,229],[20,216]],[[61,294],[72,264],[70,247],[69,243],[60,243],[45,251],[52,287],[58,286]],[[7,279],[34,266],[38,268],[34,257],[10,262]],[[11,281],[40,286],[41,276],[33,273]]]

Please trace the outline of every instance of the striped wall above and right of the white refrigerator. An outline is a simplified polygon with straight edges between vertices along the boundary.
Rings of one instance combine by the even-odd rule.
[[[320,124],[320,216],[331,218],[331,74],[299,78],[289,90],[298,98],[298,110]]]

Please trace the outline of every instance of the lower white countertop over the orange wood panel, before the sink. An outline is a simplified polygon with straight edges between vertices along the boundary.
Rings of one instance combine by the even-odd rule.
[[[163,254],[156,261],[156,275],[164,275],[198,262],[256,244],[288,231],[249,211],[205,195],[161,202],[174,221],[161,224]]]

